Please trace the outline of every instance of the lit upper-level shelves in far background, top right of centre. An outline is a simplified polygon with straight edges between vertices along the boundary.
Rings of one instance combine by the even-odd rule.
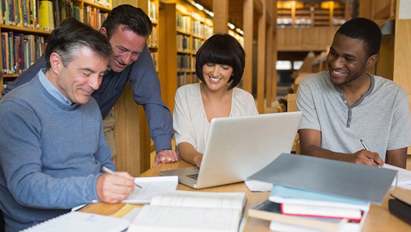
[[[349,19],[349,11],[349,1],[277,1],[277,26],[339,26]]]

